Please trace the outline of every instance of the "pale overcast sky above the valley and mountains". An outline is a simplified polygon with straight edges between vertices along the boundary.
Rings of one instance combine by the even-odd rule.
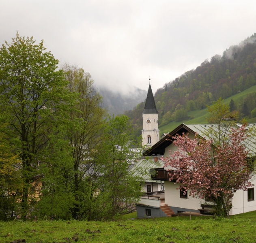
[[[0,0],[0,43],[44,40],[97,86],[153,92],[256,32],[255,0]]]

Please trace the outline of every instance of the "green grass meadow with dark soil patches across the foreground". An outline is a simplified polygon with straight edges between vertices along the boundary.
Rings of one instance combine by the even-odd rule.
[[[114,222],[37,221],[0,222],[0,242],[256,242],[256,211],[231,216],[171,217],[129,220],[136,213]],[[17,241],[19,240],[19,241]],[[26,240],[26,241],[22,241]]]

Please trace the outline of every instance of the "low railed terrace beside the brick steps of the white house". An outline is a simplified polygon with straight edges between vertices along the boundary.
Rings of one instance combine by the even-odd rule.
[[[164,205],[164,191],[146,192],[140,198],[137,205],[160,208]]]

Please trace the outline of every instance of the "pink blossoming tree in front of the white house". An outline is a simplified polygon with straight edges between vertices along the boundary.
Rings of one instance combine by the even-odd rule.
[[[246,124],[240,129],[232,128],[222,145],[213,145],[213,140],[189,139],[187,134],[172,137],[178,147],[165,166],[172,166],[171,179],[180,183],[180,190],[190,190],[189,195],[209,198],[215,204],[216,213],[227,215],[232,208],[231,198],[237,190],[252,186],[252,173],[247,165],[248,152],[243,142],[247,135]],[[171,180],[170,179],[170,180]]]

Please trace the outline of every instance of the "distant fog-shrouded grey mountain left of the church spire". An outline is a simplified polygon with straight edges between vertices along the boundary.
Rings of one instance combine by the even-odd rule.
[[[98,92],[103,96],[103,105],[110,115],[123,114],[146,99],[147,91],[135,86],[128,86],[127,92],[121,93],[107,87],[98,87]]]

